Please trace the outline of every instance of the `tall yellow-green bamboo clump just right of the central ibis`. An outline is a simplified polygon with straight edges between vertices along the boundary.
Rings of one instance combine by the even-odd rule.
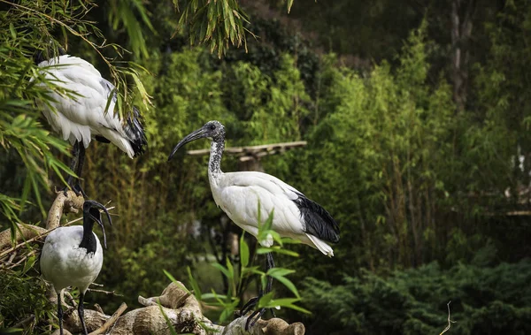
[[[335,70],[335,110],[310,137],[319,185],[310,192],[340,222],[355,223],[342,226],[341,245],[359,247],[365,265],[411,266],[437,251],[435,209],[447,196],[458,119],[450,87],[426,85],[425,39],[423,27],[411,34],[395,73],[385,62],[367,79]]]

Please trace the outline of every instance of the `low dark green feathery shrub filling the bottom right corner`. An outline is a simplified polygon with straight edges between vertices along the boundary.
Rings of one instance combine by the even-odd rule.
[[[456,323],[450,333],[524,334],[531,330],[530,276],[528,260],[496,267],[458,264],[450,270],[429,263],[387,278],[365,271],[335,286],[310,278],[303,296],[323,320],[310,330],[315,333],[438,334],[451,301]]]

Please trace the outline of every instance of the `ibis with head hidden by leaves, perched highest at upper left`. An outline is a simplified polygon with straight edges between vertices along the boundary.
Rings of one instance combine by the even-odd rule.
[[[68,186],[75,194],[86,196],[79,179],[85,148],[95,138],[96,141],[112,142],[131,158],[141,155],[147,140],[140,112],[134,107],[128,118],[122,119],[118,114],[115,115],[116,88],[89,62],[66,55],[63,49],[59,49],[58,57],[47,60],[40,52],[35,57],[35,63],[46,80],[73,91],[73,96],[66,96],[50,90],[52,101],[41,105],[42,113],[51,127],[65,141],[69,140],[73,144],[70,167],[77,178],[74,184],[72,176],[68,176]],[[44,83],[40,85],[45,87]]]

